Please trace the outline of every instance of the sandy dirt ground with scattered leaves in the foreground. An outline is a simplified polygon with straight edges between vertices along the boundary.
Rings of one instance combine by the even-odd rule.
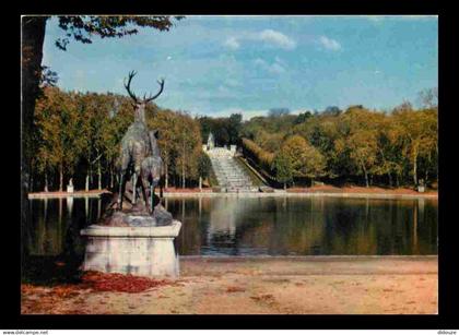
[[[436,314],[437,256],[180,258],[141,292],[22,285],[23,314]]]

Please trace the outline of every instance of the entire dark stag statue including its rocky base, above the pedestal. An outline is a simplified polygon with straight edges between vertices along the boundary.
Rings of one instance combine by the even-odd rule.
[[[154,189],[161,187],[164,168],[157,146],[158,131],[149,131],[145,122],[145,106],[154,100],[164,88],[164,80],[158,81],[160,91],[154,96],[138,98],[130,89],[130,84],[136,72],[129,73],[128,83],[125,87],[133,100],[134,121],[129,125],[121,140],[121,149],[118,160],[119,193],[110,206],[119,210],[116,213],[107,213],[105,224],[110,226],[126,225],[165,225],[172,223],[172,215],[155,201]],[[131,179],[130,184],[127,182]],[[139,196],[138,189],[142,192],[143,202]],[[160,191],[162,196],[162,189]],[[123,199],[128,205],[123,210]],[[130,214],[130,215],[126,215]],[[152,214],[152,215],[151,215]]]

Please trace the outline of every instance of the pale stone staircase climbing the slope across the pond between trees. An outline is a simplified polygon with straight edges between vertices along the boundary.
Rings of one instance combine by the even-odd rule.
[[[226,192],[258,192],[247,172],[237,164],[234,152],[223,147],[208,151],[219,186]]]

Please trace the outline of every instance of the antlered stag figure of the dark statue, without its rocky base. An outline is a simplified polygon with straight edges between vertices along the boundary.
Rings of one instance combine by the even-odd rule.
[[[164,88],[164,80],[158,81],[160,91],[155,95],[150,95],[146,97],[146,94],[143,96],[143,99],[137,97],[131,88],[132,77],[137,73],[134,71],[129,73],[128,82],[123,83],[125,88],[127,89],[129,96],[133,100],[134,108],[134,122],[129,125],[126,134],[121,140],[121,153],[119,159],[119,194],[118,194],[118,208],[122,210],[122,196],[125,193],[126,179],[125,177],[132,176],[132,204],[137,202],[137,181],[141,177],[142,163],[146,157],[152,157],[153,160],[157,160],[160,152],[156,145],[156,148],[152,147],[152,139],[149,135],[149,130],[145,122],[145,106],[148,103],[157,98]],[[154,139],[155,141],[156,139]],[[156,143],[156,142],[155,142]],[[155,151],[153,153],[153,151]],[[161,159],[161,156],[160,156]],[[145,163],[146,164],[146,163]],[[144,164],[144,165],[145,165]],[[156,176],[155,176],[156,178]],[[150,212],[149,201],[146,196],[146,184],[144,183],[145,179],[140,178],[141,187],[143,192],[143,199],[145,201],[145,206]],[[153,179],[154,180],[154,179]],[[152,194],[151,194],[152,195]]]

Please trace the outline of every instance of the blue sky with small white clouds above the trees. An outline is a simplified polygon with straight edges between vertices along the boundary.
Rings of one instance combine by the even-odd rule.
[[[63,89],[156,92],[164,108],[245,119],[274,107],[293,112],[362,104],[390,109],[438,85],[436,16],[187,16],[169,32],[55,45],[46,27],[43,64]]]

